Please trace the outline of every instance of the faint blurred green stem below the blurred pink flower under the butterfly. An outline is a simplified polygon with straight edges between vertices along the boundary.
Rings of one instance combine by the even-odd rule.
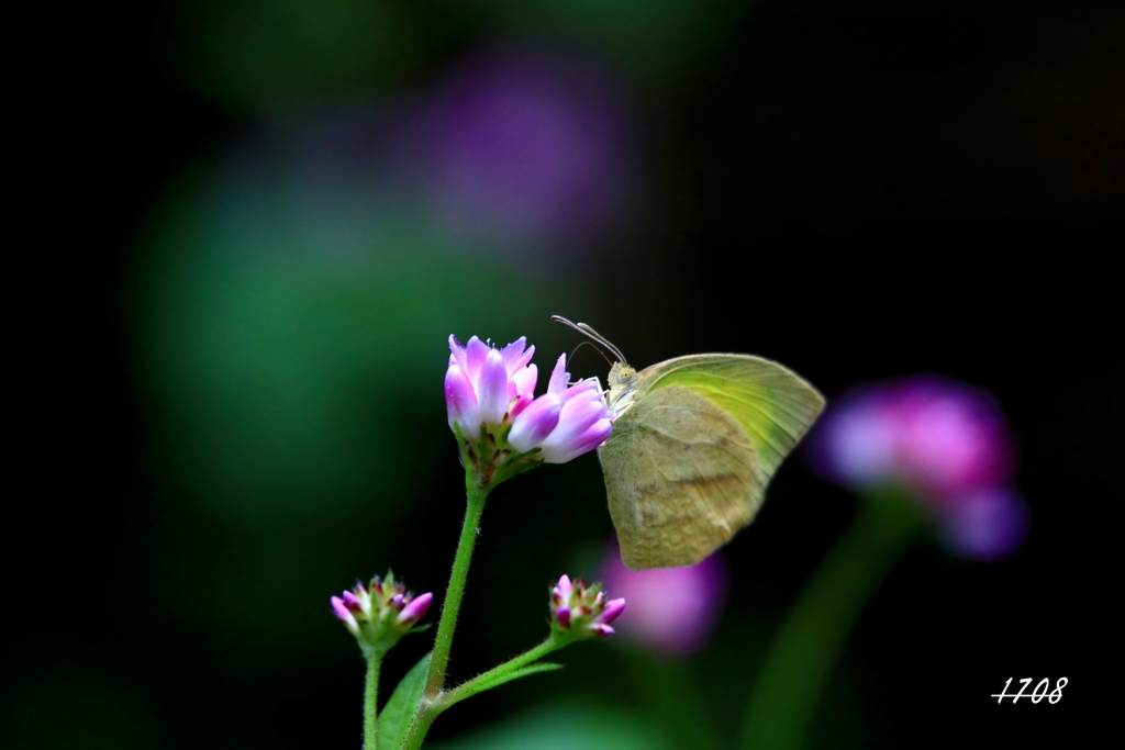
[[[681,750],[719,750],[722,743],[691,665],[631,651],[626,656],[638,693]]]

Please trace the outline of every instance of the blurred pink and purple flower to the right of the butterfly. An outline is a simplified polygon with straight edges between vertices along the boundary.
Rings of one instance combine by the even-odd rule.
[[[821,417],[807,455],[820,475],[856,490],[897,486],[921,498],[958,554],[1005,557],[1028,525],[1005,481],[1015,445],[991,397],[934,376],[861,387]]]

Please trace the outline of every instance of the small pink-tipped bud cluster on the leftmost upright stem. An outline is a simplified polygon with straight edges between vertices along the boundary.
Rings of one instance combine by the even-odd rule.
[[[356,584],[350,591],[331,600],[332,612],[356,636],[364,653],[385,653],[425,615],[433,594],[415,597],[388,571],[382,580],[378,576],[372,578],[369,588]]]

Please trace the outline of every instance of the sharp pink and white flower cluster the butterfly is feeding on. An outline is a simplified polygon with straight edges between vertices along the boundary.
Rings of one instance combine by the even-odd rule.
[[[450,336],[449,349],[449,426],[457,425],[470,443],[480,440],[483,427],[518,453],[538,449],[536,457],[547,463],[566,463],[609,437],[613,413],[595,380],[569,385],[566,354],[555,364],[547,392],[536,398],[539,373],[530,363],[536,347],[525,338],[497,350],[476,336],[465,346]]]

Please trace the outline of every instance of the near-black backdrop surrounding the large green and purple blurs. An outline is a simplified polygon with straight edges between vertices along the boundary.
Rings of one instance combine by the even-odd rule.
[[[212,33],[206,13],[84,7],[32,24],[38,53],[29,72],[12,73],[19,234],[9,284],[21,355],[3,744],[358,742],[362,668],[327,596],[392,563],[418,590],[443,586],[461,512],[439,396],[444,342],[402,355],[432,363],[408,371],[425,382],[387,376],[399,354],[372,344],[387,347],[370,386],[382,400],[358,403],[359,424],[390,437],[363,433],[348,445],[381,446],[376,476],[334,486],[344,498],[334,504],[280,516],[259,513],[272,503],[267,482],[230,521],[216,504],[261,475],[237,475],[246,485],[224,485],[234,475],[222,472],[195,479],[212,459],[198,448],[206,435],[177,422],[194,401],[174,401],[145,353],[159,331],[146,301],[159,275],[151,259],[162,211],[256,137],[248,133],[269,130],[262,123],[277,111],[425,90],[500,39],[566,48],[611,71],[639,187],[565,272],[503,297],[497,288],[524,282],[498,263],[487,281],[467,277],[469,302],[485,301],[447,305],[431,327],[502,343],[526,334],[544,367],[576,343],[546,323],[559,313],[593,323],[638,364],[755,352],[829,399],[918,371],[989,389],[1020,443],[1017,484],[1033,513],[1025,546],[999,563],[912,550],[865,613],[811,742],[1083,747],[1082,733],[1115,710],[1104,702],[1114,689],[1109,530],[1125,426],[1114,268],[1125,183],[1120,6],[717,2],[687,16],[714,19],[694,36],[651,39],[614,19],[566,25],[506,8],[426,3],[410,11],[421,39],[402,53],[410,62],[387,53],[371,63],[378,75],[325,74],[270,108],[252,90],[208,85],[222,76],[199,72],[214,61],[196,64]],[[279,73],[277,85],[288,80]],[[423,281],[424,307],[444,287]],[[366,314],[375,329],[414,334],[394,311]],[[578,374],[603,369],[578,354]],[[222,445],[237,450],[235,439]],[[315,497],[314,479],[277,494]],[[454,676],[540,636],[542,587],[588,561],[611,530],[600,481],[586,457],[489,500]],[[686,667],[724,735],[774,623],[853,512],[846,493],[793,460],[726,549],[727,615]],[[386,672],[424,650],[422,639],[404,642]],[[558,695],[644,715],[623,652],[588,645],[562,661],[561,675],[450,712],[433,737]],[[988,697],[1008,677],[1062,676],[1059,705]]]

